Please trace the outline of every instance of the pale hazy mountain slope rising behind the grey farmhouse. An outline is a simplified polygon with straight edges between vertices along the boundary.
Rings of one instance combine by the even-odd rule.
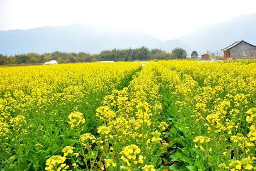
[[[256,14],[235,17],[223,23],[203,27],[179,40],[200,53],[220,51],[235,41],[244,39],[256,45]]]

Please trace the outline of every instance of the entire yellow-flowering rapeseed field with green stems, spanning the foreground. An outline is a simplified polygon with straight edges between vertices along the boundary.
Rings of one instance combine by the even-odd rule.
[[[0,68],[1,171],[256,170],[256,63]]]

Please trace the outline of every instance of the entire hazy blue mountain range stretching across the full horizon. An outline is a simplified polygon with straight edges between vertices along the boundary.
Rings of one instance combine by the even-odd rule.
[[[256,14],[235,17],[223,23],[202,27],[179,39],[162,41],[142,32],[114,32],[83,24],[70,26],[40,27],[28,30],[0,31],[0,54],[15,55],[28,52],[45,53],[89,52],[99,53],[106,49],[124,49],[146,46],[171,52],[175,47],[193,50],[199,55],[229,46],[244,39],[256,44]]]

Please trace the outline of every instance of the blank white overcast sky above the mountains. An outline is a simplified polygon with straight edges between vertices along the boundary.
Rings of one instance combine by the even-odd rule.
[[[256,0],[0,0],[0,30],[87,23],[162,40],[256,13]]]

